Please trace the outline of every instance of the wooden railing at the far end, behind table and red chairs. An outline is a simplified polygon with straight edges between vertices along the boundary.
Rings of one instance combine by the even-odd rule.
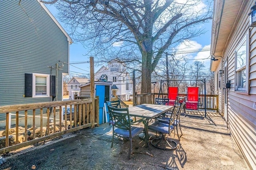
[[[168,94],[163,93],[159,97],[162,98],[164,96],[167,96]],[[186,94],[178,94],[178,97],[186,97]],[[200,105],[199,109],[204,109],[204,95],[200,94]],[[136,105],[139,104],[154,104],[155,98],[158,98],[158,93],[147,93],[147,94],[136,94]],[[206,109],[208,110],[216,110],[218,112],[219,104],[218,104],[218,95],[214,94],[206,94]]]

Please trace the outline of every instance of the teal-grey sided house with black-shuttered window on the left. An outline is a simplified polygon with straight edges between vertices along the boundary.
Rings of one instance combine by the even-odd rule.
[[[62,100],[72,39],[40,0],[0,0],[0,16],[0,106]]]

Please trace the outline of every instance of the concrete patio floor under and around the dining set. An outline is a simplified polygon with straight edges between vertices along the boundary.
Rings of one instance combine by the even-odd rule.
[[[176,150],[159,150],[135,137],[128,160],[129,142],[115,139],[108,123],[94,129],[66,134],[62,139],[2,155],[0,169],[24,170],[247,170],[243,157],[232,141],[225,121],[218,113],[190,112],[181,116],[182,137],[172,138]],[[141,125],[143,126],[143,125]],[[150,156],[146,152],[152,154]]]

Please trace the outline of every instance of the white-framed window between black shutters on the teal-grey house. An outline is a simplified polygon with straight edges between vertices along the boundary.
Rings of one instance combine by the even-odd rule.
[[[36,98],[50,96],[50,75],[33,73],[32,81],[32,97]]]

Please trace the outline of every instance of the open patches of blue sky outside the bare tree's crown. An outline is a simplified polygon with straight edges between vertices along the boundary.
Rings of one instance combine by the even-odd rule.
[[[62,27],[66,30],[67,33],[69,33],[68,27],[65,27],[65,24],[62,23],[58,17],[58,11],[54,7],[54,5],[47,5],[46,7],[50,12],[53,14],[53,16],[59,21],[59,23],[62,25]],[[204,28],[206,33],[204,35],[200,35],[199,37],[195,37],[193,40],[185,41],[184,43],[181,43],[176,47],[176,49],[180,49],[180,51],[191,51],[195,49],[206,49],[208,50],[210,48],[210,41],[211,41],[211,29],[212,29],[212,22],[204,23],[199,26],[200,28]],[[74,41],[74,40],[73,40]],[[188,44],[193,44],[193,46],[188,47]],[[185,54],[177,54],[175,58],[179,57],[185,57],[188,59],[198,59],[199,61],[204,62],[206,68],[206,71],[209,71],[210,69],[210,51],[201,51],[199,53],[185,53]],[[70,74],[89,74],[90,73],[90,63],[84,63],[84,64],[72,64],[76,62],[83,62],[83,61],[89,61],[90,56],[86,56],[86,49],[81,43],[74,42],[70,45]],[[208,58],[209,57],[209,58]],[[208,58],[208,59],[206,59]],[[192,60],[193,61],[193,60]],[[191,62],[192,62],[191,61]],[[96,72],[101,66],[94,67],[94,71]]]

